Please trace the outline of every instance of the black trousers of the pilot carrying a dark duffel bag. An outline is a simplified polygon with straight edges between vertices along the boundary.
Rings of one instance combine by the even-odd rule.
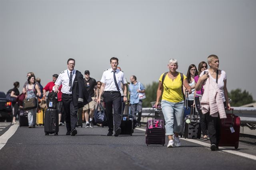
[[[121,125],[121,93],[110,93],[105,91],[103,93],[103,101],[105,102],[106,114],[108,116],[108,131],[116,130]],[[114,110],[114,124],[112,110]]]

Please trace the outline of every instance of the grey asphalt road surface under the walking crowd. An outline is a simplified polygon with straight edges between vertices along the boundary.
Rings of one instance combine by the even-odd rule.
[[[6,127],[8,128],[8,127]],[[0,150],[1,170],[252,170],[256,160],[181,140],[179,148],[145,144],[145,132],[106,136],[108,128],[77,128],[66,136],[44,136],[44,127],[18,127]],[[182,139],[182,138],[181,138]],[[200,140],[202,141],[202,140]],[[240,142],[239,152],[256,155],[255,145]],[[225,150],[225,149],[224,149]],[[228,150],[234,150],[228,148]]]

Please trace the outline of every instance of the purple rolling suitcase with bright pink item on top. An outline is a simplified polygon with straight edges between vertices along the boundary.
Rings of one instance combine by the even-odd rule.
[[[153,107],[154,114],[154,107]],[[165,144],[165,127],[162,119],[153,119],[147,122],[146,126],[146,144]]]

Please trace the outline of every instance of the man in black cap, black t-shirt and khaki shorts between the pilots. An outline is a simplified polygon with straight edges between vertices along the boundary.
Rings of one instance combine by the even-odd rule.
[[[86,90],[88,91],[90,97],[92,97],[92,101],[83,107],[83,114],[86,121],[86,128],[93,127],[93,115],[94,115],[94,108],[96,105],[95,102],[95,91],[97,89],[97,82],[94,78],[90,77],[90,71],[86,70],[84,71],[84,85]],[[90,121],[89,121],[90,116]]]

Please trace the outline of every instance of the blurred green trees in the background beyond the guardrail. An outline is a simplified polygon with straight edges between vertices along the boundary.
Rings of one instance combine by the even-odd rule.
[[[146,85],[146,99],[143,100],[142,106],[143,107],[152,107],[152,101],[156,101],[156,91],[158,88],[158,82],[152,82],[149,85]],[[234,89],[228,93],[228,97],[231,99],[230,105],[233,107],[238,107],[242,105],[246,105],[249,103],[255,102],[252,98],[252,95],[244,90],[241,89]]]

